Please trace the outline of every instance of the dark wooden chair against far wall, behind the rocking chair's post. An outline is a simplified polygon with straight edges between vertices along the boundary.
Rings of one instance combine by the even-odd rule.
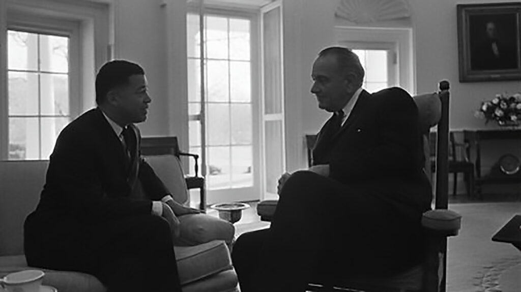
[[[430,160],[431,172],[436,172],[436,132],[430,132]],[[472,197],[474,194],[474,163],[469,161],[467,143],[455,141],[454,132],[449,133],[449,174],[453,174],[452,195],[457,194],[457,175],[463,173],[463,181],[467,190],[467,195]],[[459,151],[458,151],[459,150]],[[460,155],[458,155],[460,153]]]

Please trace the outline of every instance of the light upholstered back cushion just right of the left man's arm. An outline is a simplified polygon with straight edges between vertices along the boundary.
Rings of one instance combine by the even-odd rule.
[[[150,155],[144,158],[170,191],[173,200],[180,204],[185,204],[189,195],[187,182],[184,180],[184,173],[179,159],[173,154]]]

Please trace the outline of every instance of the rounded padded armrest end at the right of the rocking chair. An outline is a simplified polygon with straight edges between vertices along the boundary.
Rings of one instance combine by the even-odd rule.
[[[461,229],[461,215],[451,210],[429,210],[421,216],[421,225],[441,236],[454,236]]]

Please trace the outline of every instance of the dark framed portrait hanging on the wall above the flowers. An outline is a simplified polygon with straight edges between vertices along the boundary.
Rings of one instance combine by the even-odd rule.
[[[521,3],[458,4],[460,82],[521,80]]]

